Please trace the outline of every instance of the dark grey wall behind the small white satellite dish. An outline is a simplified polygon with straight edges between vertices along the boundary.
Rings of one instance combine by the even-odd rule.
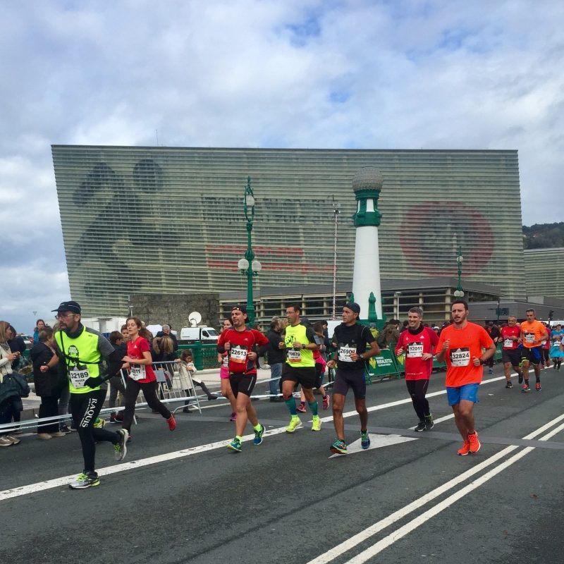
[[[180,333],[190,326],[188,314],[200,312],[202,325],[219,329],[219,294],[139,294],[131,296],[133,315],[145,324],[168,324]]]

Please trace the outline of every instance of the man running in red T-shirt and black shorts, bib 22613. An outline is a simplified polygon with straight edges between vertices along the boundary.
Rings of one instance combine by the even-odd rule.
[[[224,329],[217,341],[217,352],[228,354],[229,384],[235,396],[235,439],[228,444],[228,448],[241,452],[241,441],[247,419],[255,430],[253,444],[262,443],[264,425],[259,423],[257,411],[252,407],[251,394],[257,383],[257,353],[255,346],[267,345],[269,340],[256,329],[247,329],[245,317],[247,309],[237,305],[231,310],[233,327]]]

